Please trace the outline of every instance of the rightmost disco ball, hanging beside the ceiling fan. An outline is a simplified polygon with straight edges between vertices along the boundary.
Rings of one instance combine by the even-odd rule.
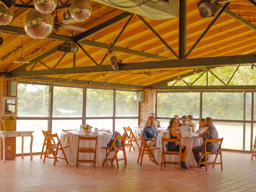
[[[92,6],[89,0],[76,0],[69,8],[72,18],[77,21],[87,20],[92,13]]]

